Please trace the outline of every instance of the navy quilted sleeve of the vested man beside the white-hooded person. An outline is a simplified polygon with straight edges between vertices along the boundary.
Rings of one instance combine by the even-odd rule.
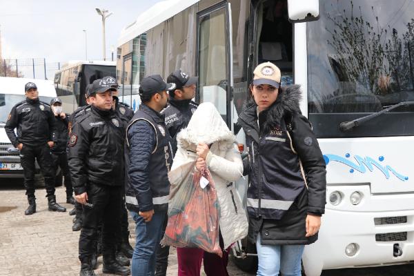
[[[152,191],[150,187],[149,164],[155,148],[155,130],[144,120],[139,120],[128,129],[130,166],[128,175],[130,187],[137,195],[140,211],[152,210]]]

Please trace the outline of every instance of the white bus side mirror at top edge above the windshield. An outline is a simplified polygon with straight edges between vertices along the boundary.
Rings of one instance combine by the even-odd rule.
[[[319,19],[319,0],[288,0],[288,15],[291,23],[316,21]]]

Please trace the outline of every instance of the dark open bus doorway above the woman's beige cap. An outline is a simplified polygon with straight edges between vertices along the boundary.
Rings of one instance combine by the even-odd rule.
[[[287,1],[262,1],[256,24],[256,64],[275,63],[282,72],[282,86],[293,84],[293,26],[288,21]]]

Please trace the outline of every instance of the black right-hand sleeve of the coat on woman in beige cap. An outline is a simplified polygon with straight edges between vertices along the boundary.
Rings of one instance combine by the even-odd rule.
[[[326,164],[306,117],[293,114],[293,148],[299,155],[308,184],[308,213],[322,215],[326,204]]]

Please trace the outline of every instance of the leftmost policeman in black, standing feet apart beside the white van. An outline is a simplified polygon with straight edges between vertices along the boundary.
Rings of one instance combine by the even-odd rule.
[[[57,204],[55,197],[55,170],[50,152],[50,148],[55,145],[56,141],[55,116],[48,103],[39,101],[36,84],[28,82],[24,89],[26,99],[12,108],[4,127],[13,146],[20,150],[24,184],[29,201],[29,207],[24,213],[25,215],[36,213],[34,159],[37,159],[45,179],[49,210],[66,212],[66,208]],[[17,136],[14,133],[14,128],[17,128]]]

